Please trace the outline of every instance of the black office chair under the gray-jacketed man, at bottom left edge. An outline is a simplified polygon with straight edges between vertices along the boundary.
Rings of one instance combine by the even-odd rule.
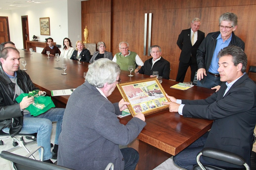
[[[40,149],[40,147],[33,150],[33,152],[35,153],[38,149]],[[13,168],[17,169],[17,170],[21,170],[21,169],[22,170],[34,170],[34,169],[64,170],[64,169],[70,169],[70,168],[67,168],[67,167],[64,167],[64,166],[60,166],[60,165],[56,165],[56,164],[50,164],[50,163],[30,159],[30,158],[28,158],[30,154],[33,154],[33,153],[31,152],[26,156],[20,156],[20,155],[16,155],[14,153],[10,153],[10,152],[7,152],[7,151],[2,151],[0,153],[0,157],[11,161]],[[86,167],[84,167],[84,169],[86,169]],[[109,163],[106,166],[105,170],[109,170],[109,169],[111,169],[111,170],[114,169],[114,164],[113,163]]]

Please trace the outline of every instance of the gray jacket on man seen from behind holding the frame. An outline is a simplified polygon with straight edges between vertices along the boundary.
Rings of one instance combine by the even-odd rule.
[[[118,145],[127,145],[146,123],[133,117],[119,122],[118,103],[112,104],[87,81],[70,95],[59,136],[58,165],[73,169],[104,169],[112,162],[124,169]]]

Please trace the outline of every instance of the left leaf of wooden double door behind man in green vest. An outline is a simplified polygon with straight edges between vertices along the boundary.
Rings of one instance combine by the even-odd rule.
[[[145,13],[148,14],[149,11],[148,2],[149,0],[113,0],[113,55],[120,52],[119,43],[126,41],[129,43],[130,51],[136,52],[143,62],[147,60],[147,55],[143,55],[143,47]]]

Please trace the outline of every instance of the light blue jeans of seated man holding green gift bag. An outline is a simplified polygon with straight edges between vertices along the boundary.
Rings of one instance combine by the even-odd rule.
[[[32,134],[37,133],[37,146],[44,147],[44,159],[51,159],[51,129],[52,122],[57,122],[55,144],[59,145],[58,139],[61,132],[62,117],[65,109],[63,108],[51,108],[47,112],[40,114],[36,117],[26,114],[23,116],[23,125],[19,133]],[[3,132],[9,133],[9,128],[2,129]],[[39,155],[41,155],[41,149],[39,149]]]

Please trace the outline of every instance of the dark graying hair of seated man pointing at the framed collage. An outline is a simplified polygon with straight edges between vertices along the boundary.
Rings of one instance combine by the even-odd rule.
[[[218,53],[218,58],[223,56],[232,56],[232,61],[235,66],[239,63],[242,64],[241,72],[244,73],[247,67],[247,55],[244,53],[242,48],[231,45],[221,49]]]

